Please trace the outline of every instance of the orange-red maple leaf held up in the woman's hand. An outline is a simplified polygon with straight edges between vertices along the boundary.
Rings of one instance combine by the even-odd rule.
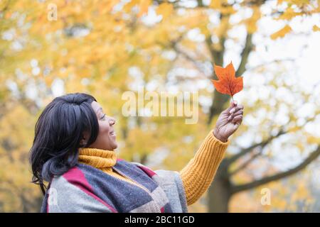
[[[220,93],[230,94],[233,99],[233,95],[243,89],[243,77],[235,77],[235,68],[233,67],[233,62],[230,62],[230,64],[225,68],[215,65],[214,69],[215,74],[219,79],[211,79],[215,89],[217,89],[217,91]]]

